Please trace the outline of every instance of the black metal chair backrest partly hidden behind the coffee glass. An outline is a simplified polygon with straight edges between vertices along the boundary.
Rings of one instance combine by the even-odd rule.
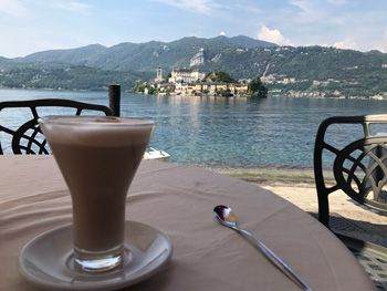
[[[17,128],[10,128],[10,126],[3,126],[0,124],[0,133],[6,133],[11,138],[11,147],[13,154],[50,154],[49,147],[46,145],[45,138],[40,129],[38,124],[38,118],[40,112],[44,112],[44,107],[54,107],[60,108],[61,114],[67,114],[65,108],[73,110],[72,114],[74,115],[96,115],[104,114],[106,116],[113,115],[112,111],[103,105],[88,104],[77,101],[71,100],[59,100],[59,98],[50,98],[50,100],[31,100],[31,101],[9,101],[9,102],[0,102],[0,112],[2,110],[17,110],[20,111],[22,108],[27,110],[31,117],[23,124],[18,124]],[[93,114],[92,114],[93,113]],[[72,115],[69,114],[69,115]],[[45,114],[48,115],[48,114]],[[57,114],[55,114],[57,115]],[[20,126],[19,126],[20,125]],[[0,142],[0,155],[3,154],[3,148],[1,147]]]

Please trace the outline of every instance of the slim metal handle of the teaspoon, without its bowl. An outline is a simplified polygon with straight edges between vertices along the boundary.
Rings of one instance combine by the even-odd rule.
[[[273,251],[271,251],[266,246],[263,245],[260,240],[258,240],[253,235],[244,229],[240,229],[238,227],[232,227],[234,230],[240,231],[250,238],[252,238],[258,247],[266,254],[266,257],[278,267],[282,272],[284,272],[290,279],[292,279],[299,287],[301,287],[304,291],[313,291],[286,263],[284,263]]]

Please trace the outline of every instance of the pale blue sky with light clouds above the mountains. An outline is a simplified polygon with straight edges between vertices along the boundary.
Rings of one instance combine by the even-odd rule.
[[[386,0],[0,0],[0,56],[247,35],[387,53]]]

